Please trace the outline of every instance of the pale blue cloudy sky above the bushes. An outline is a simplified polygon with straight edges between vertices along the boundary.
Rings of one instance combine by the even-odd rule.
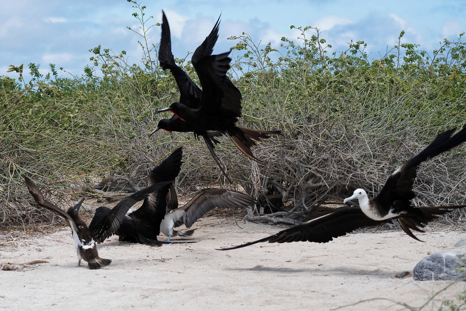
[[[466,31],[466,0],[148,0],[142,4],[156,22],[164,9],[175,57],[194,51],[220,13],[214,53],[235,45],[226,38],[243,31],[275,47],[282,36],[295,40],[297,33],[290,25],[321,28],[322,37],[337,51],[345,50],[350,40],[364,40],[374,57],[394,46],[401,30],[406,32],[404,41],[427,51],[437,48],[443,38],[455,39]],[[0,1],[0,76],[16,78],[16,73],[7,74],[8,65],[30,62],[41,64],[44,74],[48,63],[55,63],[80,75],[86,64],[92,66],[89,48],[99,44],[126,50],[130,62],[138,62],[139,38],[126,28],[138,27],[133,12],[125,0]],[[160,28],[152,28],[150,35],[157,43]]]

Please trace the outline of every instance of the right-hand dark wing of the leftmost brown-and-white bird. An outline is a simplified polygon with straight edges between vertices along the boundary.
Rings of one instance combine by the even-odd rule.
[[[124,216],[136,202],[144,200],[154,191],[163,188],[165,185],[170,184],[173,180],[168,180],[164,182],[157,183],[151,187],[144,188],[134,194],[131,194],[129,197],[121,200],[115,207],[113,207],[109,213],[107,213],[103,218],[95,223],[91,222],[89,225],[89,231],[92,233],[96,242],[103,242],[110,234],[117,231],[120,227],[120,224],[123,221]]]

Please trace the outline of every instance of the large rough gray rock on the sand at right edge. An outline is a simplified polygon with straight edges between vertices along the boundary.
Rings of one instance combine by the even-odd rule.
[[[458,255],[466,256],[466,253],[448,251],[424,257],[414,267],[413,279],[415,281],[439,281],[464,278],[464,273],[456,271],[456,267],[464,265],[464,259],[462,260]]]

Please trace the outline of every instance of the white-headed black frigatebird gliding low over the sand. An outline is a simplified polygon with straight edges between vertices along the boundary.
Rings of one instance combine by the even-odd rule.
[[[436,207],[411,205],[411,200],[416,196],[412,187],[418,165],[466,141],[466,126],[451,136],[455,130],[456,128],[440,133],[423,151],[404,162],[391,174],[380,193],[373,199],[369,199],[363,189],[356,189],[351,197],[344,200],[346,203],[357,198],[360,207],[339,207],[333,213],[306,221],[258,241],[227,249],[238,249],[266,241],[325,243],[358,228],[378,226],[396,220],[406,234],[420,241],[413,235],[411,229],[424,232],[420,228],[424,228],[429,221],[438,218],[438,215],[445,214],[452,209],[466,207],[466,205]]]

